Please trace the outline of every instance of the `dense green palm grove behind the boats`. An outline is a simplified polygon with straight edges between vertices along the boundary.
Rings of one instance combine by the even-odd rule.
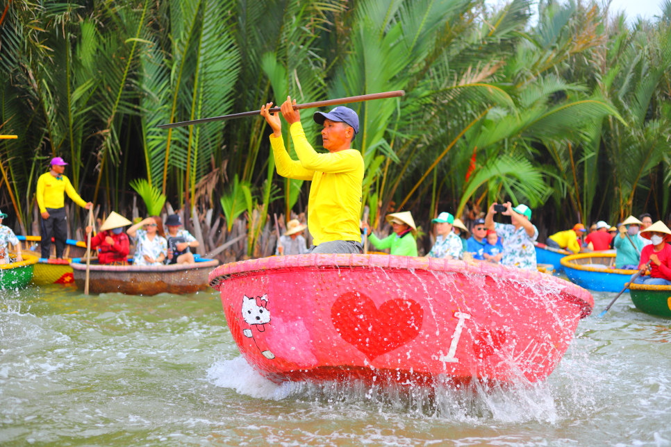
[[[527,0],[4,0],[0,10],[0,133],[18,135],[0,141],[0,209],[22,234],[37,234],[36,179],[58,155],[101,215],[158,212],[167,198],[164,210],[182,209],[208,249],[235,240],[233,257],[267,255],[270,217],[304,212],[308,185],[274,172],[265,121],[156,125],[288,94],[389,90],[406,96],[352,106],[378,226],[411,210],[427,231],[440,211],[467,221],[508,199],[534,209],[541,239],[575,221],[670,217],[668,0],[651,21]],[[319,148],[313,112],[301,117]],[[71,221],[83,219],[74,208]]]

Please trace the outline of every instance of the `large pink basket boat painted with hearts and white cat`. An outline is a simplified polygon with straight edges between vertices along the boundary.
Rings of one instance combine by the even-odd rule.
[[[210,285],[242,355],[276,383],[542,380],[594,306],[538,271],[392,255],[234,262]]]

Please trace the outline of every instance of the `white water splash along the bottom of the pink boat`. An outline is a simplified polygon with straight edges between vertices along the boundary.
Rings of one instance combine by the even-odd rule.
[[[556,423],[560,418],[552,387],[545,383],[454,385],[439,378],[434,387],[400,385],[393,381],[350,380],[283,382],[276,385],[254,370],[245,359],[219,360],[207,371],[217,387],[265,400],[308,401],[322,405],[355,405],[380,413],[401,413],[472,424]]]

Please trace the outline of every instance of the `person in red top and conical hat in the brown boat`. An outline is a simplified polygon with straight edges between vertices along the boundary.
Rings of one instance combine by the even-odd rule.
[[[100,226],[100,233],[91,237],[91,248],[98,248],[98,264],[128,265],[130,242],[124,226],[131,221],[116,212],[110,215]],[[87,226],[86,233],[92,233],[93,227]]]

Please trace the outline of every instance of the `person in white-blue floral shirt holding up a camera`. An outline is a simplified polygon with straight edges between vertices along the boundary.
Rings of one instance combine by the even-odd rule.
[[[513,223],[495,223],[494,214],[500,212],[510,216]],[[513,208],[510,202],[503,205],[492,203],[485,217],[488,230],[495,230],[503,239],[502,265],[536,271],[536,248],[533,242],[538,239],[538,228],[530,221],[531,210],[527,205]]]

